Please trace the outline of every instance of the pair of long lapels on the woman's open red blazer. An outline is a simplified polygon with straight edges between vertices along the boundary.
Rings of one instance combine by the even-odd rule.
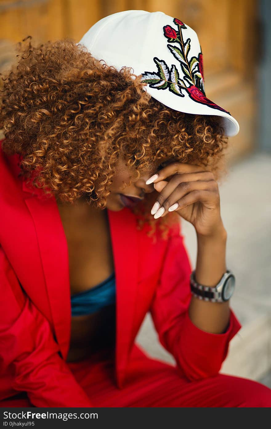
[[[44,199],[22,184],[35,225],[54,332],[66,359],[71,332],[68,245],[54,196]],[[39,194],[39,190],[38,190]],[[136,218],[128,208],[107,211],[116,274],[116,381],[120,386],[131,348],[137,294]],[[37,286],[38,287],[38,286]]]

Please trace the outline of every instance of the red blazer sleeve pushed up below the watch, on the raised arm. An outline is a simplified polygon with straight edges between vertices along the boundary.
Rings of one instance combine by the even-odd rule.
[[[231,308],[224,333],[206,332],[192,323],[188,314],[192,296],[191,262],[180,235],[180,225],[172,231],[150,313],[159,341],[173,355],[182,373],[193,381],[220,371],[229,341],[241,329],[241,323]]]

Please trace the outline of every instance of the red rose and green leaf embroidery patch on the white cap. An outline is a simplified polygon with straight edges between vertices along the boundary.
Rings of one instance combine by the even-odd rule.
[[[221,110],[230,115],[229,112],[217,106],[205,96],[204,82],[203,82],[203,55],[199,53],[198,57],[191,57],[188,60],[188,54],[190,51],[191,39],[187,39],[184,42],[182,29],[187,28],[185,24],[177,18],[173,19],[174,24],[177,25],[177,29],[170,25],[163,27],[164,36],[167,41],[170,42],[167,48],[179,61],[183,79],[180,78],[179,71],[175,64],[171,67],[166,64],[164,60],[154,57],[153,60],[157,66],[157,72],[146,72],[142,73],[141,81],[149,84],[150,88],[155,89],[168,89],[173,94],[179,97],[185,97],[183,91],[186,91],[189,97],[197,103],[206,104],[207,106]],[[175,45],[173,45],[175,43]],[[176,45],[178,44],[178,45]]]

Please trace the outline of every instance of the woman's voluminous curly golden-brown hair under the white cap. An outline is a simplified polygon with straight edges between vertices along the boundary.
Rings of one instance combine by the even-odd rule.
[[[217,116],[177,112],[152,98],[132,69],[120,71],[65,38],[17,44],[18,60],[3,76],[0,127],[6,154],[19,154],[21,175],[34,187],[74,202],[87,196],[105,208],[119,157],[137,180],[154,160],[172,157],[208,167],[218,179],[227,144]],[[153,219],[157,192],[134,208],[152,234],[179,221]],[[165,233],[163,233],[165,235]]]

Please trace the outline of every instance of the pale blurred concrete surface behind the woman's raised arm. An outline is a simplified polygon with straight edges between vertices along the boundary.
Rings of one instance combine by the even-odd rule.
[[[269,380],[271,371],[271,154],[251,154],[229,167],[219,184],[221,216],[227,230],[226,263],[235,273],[230,305],[242,328],[230,342],[221,372]],[[182,220],[182,233],[195,267],[194,227]],[[158,359],[174,363],[159,344],[150,314],[136,341]]]

